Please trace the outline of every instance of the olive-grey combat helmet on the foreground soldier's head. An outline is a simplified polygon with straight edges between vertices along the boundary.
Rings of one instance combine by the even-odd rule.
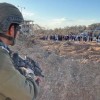
[[[23,16],[19,9],[9,3],[0,3],[0,33],[8,31],[12,23],[21,24]]]

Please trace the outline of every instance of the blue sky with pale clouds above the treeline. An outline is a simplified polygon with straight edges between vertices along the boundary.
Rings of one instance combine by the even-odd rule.
[[[100,23],[100,0],[0,0],[21,10],[24,19],[46,28]],[[25,9],[24,9],[25,8]]]

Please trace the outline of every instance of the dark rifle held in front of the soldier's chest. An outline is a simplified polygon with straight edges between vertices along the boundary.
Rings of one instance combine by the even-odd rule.
[[[42,74],[42,69],[39,67],[39,64],[36,63],[34,60],[32,60],[29,57],[26,57],[25,59],[23,59],[22,57],[20,57],[18,55],[18,53],[13,53],[12,54],[12,60],[14,63],[15,68],[22,74],[25,76],[25,73],[23,73],[20,69],[22,67],[24,68],[28,68],[31,71],[33,71],[33,73],[35,74],[35,76],[41,76],[44,77],[44,75]]]

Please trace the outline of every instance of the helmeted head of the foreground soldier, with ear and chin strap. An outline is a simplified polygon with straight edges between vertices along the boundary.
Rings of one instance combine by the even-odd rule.
[[[7,45],[14,45],[23,21],[23,16],[16,6],[0,3],[0,40]]]

